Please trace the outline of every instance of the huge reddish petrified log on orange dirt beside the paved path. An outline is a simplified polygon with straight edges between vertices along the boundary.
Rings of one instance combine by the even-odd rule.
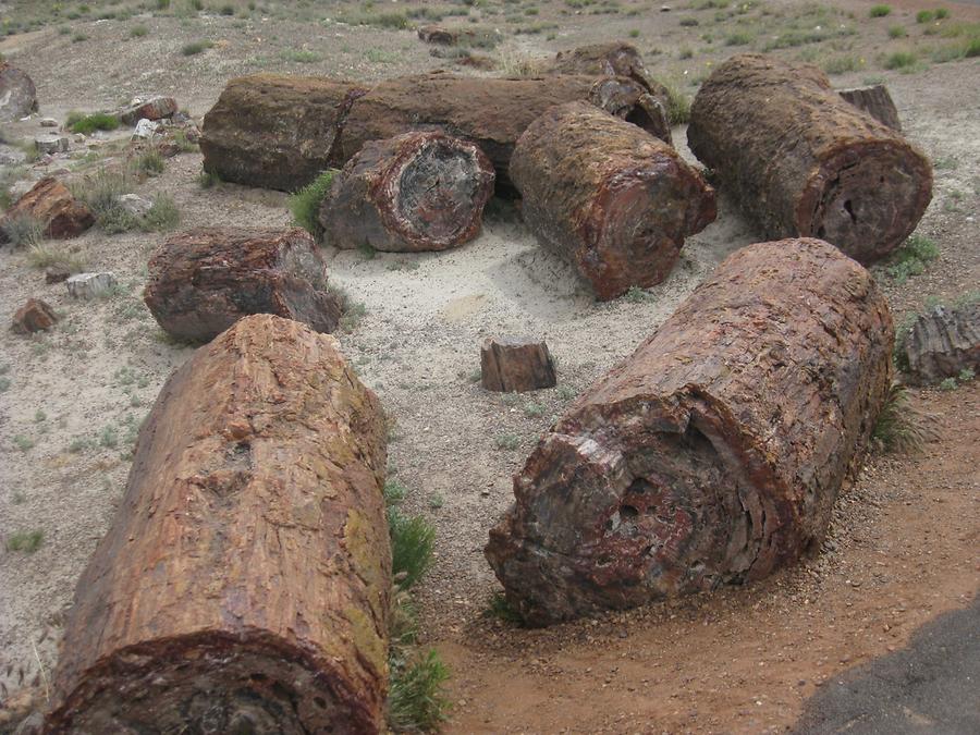
[[[759,579],[817,548],[891,380],[871,275],[750,245],[552,427],[487,559],[534,624]]]

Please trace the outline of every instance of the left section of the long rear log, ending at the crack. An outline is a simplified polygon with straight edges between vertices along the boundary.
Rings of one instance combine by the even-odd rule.
[[[315,77],[232,79],[205,115],[205,171],[264,188],[302,188],[338,168],[344,119],[364,87]]]

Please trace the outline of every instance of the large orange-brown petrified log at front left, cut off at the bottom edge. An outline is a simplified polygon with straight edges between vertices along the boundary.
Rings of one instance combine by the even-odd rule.
[[[379,732],[384,437],[332,336],[258,315],[198,350],[78,581],[47,731]]]

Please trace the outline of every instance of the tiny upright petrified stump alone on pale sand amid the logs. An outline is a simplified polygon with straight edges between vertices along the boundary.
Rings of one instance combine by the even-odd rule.
[[[480,347],[480,382],[488,391],[523,393],[553,388],[558,379],[543,341],[488,338]]]

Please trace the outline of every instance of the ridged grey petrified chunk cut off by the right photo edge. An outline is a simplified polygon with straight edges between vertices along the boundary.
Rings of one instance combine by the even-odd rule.
[[[905,335],[908,371],[920,383],[980,370],[980,302],[936,306],[919,316]]]

